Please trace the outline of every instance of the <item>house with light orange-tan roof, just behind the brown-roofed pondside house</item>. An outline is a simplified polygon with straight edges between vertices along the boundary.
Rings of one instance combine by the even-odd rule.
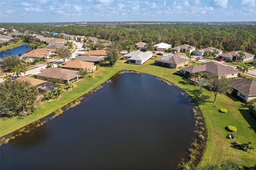
[[[94,66],[94,63],[91,63],[91,62],[74,60],[74,61],[66,61],[62,63],[61,68],[79,71],[80,69],[91,70],[93,66]]]

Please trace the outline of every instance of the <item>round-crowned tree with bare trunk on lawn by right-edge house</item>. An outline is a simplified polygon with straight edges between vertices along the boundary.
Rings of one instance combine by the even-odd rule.
[[[210,90],[214,93],[214,103],[216,101],[217,95],[220,94],[230,94],[232,92],[232,82],[228,80],[225,76],[214,76],[209,82],[208,86]]]

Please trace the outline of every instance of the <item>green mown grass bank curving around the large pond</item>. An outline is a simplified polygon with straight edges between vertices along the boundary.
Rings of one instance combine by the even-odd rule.
[[[255,164],[255,151],[244,152],[231,147],[231,143],[235,141],[240,143],[253,141],[253,146],[256,146],[256,120],[246,111],[247,108],[244,107],[243,103],[226,95],[218,95],[216,103],[212,103],[214,100],[213,93],[204,88],[202,93],[198,93],[199,87],[191,85],[183,77],[175,75],[176,70],[174,69],[155,66],[153,59],[150,59],[144,65],[127,64],[125,60],[120,59],[114,67],[101,67],[95,72],[98,77],[89,78],[86,76],[86,78],[76,83],[77,88],[72,91],[65,91],[59,100],[44,101],[33,114],[23,120],[19,120],[17,117],[6,120],[0,119],[1,136],[52,113],[100,85],[116,72],[125,69],[149,73],[171,81],[184,89],[197,101],[206,118],[208,127],[208,141],[201,164],[219,164],[223,160],[229,159],[243,166],[253,166]],[[220,113],[218,110],[222,108],[227,109],[228,113]],[[225,129],[228,125],[233,125],[238,129],[235,133],[237,140],[226,138],[227,134],[230,134]]]

